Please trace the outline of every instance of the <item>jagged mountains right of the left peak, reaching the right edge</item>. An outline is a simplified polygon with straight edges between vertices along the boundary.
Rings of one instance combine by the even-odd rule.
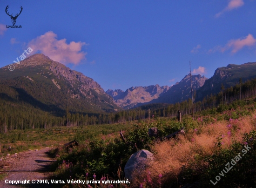
[[[200,101],[210,94],[217,94],[224,87],[235,86],[242,81],[256,77],[256,62],[244,63],[242,65],[229,64],[227,67],[217,68],[211,78],[192,75],[192,88],[195,101]],[[168,87],[159,85],[148,87],[130,87],[125,92],[109,89],[107,94],[113,97],[115,104],[129,109],[153,103],[176,103],[191,98],[190,74],[187,74],[180,82]]]

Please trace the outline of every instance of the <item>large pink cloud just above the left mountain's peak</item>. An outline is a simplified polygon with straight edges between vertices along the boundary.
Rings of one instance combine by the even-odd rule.
[[[86,59],[87,53],[81,51],[81,47],[87,45],[85,42],[71,41],[66,43],[66,39],[57,40],[57,34],[52,31],[38,36],[36,39],[31,40],[28,43],[28,47],[31,47],[34,51],[47,55],[54,61],[61,62],[63,64],[73,63],[79,64],[81,60]]]

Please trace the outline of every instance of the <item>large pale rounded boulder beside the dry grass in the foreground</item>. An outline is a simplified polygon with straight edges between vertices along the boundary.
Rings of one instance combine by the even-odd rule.
[[[132,154],[124,167],[125,177],[132,180],[132,173],[136,170],[143,170],[149,161],[153,160],[153,154],[142,149]]]

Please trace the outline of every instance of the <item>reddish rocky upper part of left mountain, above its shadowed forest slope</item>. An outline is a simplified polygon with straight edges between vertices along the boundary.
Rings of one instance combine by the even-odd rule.
[[[81,100],[81,103],[88,104],[90,109],[102,111],[104,108],[115,111],[119,108],[113,103],[113,98],[105,94],[103,88],[92,78],[51,60],[44,54],[31,55],[20,61],[20,64],[15,64],[12,74],[8,71],[8,67],[0,68],[0,79],[21,76],[30,81],[47,83],[49,87],[64,93],[63,96],[67,95],[65,99]]]

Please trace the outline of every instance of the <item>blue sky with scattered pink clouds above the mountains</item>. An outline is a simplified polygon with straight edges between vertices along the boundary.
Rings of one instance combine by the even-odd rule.
[[[6,28],[7,5],[13,15],[23,7],[22,28]],[[256,0],[1,0],[0,67],[31,47],[105,91],[171,86],[189,60],[193,74],[210,78],[256,61],[255,10]]]

